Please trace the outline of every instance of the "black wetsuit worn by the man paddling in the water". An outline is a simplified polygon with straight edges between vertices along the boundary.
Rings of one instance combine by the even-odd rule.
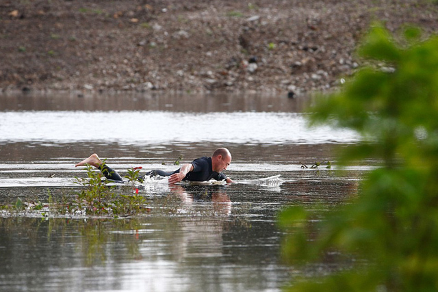
[[[227,179],[225,174],[220,172],[214,172],[213,167],[211,165],[211,157],[201,157],[198,159],[194,159],[191,162],[193,165],[193,170],[189,172],[183,181],[209,181],[211,178],[216,179],[216,181],[222,181]],[[114,170],[112,170],[108,165],[103,164],[100,167],[102,173],[105,175],[107,179],[112,181],[117,181],[122,183],[122,177]],[[151,172],[147,172],[146,176],[171,176],[172,174],[178,173],[180,169],[175,170],[175,172],[165,172],[163,170],[152,170]]]

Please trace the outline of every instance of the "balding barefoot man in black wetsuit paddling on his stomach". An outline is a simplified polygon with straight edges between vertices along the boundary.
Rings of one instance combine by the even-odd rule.
[[[146,176],[169,176],[170,185],[180,181],[209,181],[211,178],[216,179],[216,181],[225,180],[227,183],[233,183],[231,178],[227,178],[225,174],[222,174],[222,171],[227,170],[230,163],[231,153],[229,150],[227,148],[218,148],[214,151],[211,157],[194,159],[191,163],[183,164],[181,168],[175,170],[175,172],[152,170],[151,172],[146,173]],[[83,166],[86,164],[99,168],[107,179],[118,181],[120,183],[123,182],[122,177],[103,163],[95,153],[77,163],[75,166]]]

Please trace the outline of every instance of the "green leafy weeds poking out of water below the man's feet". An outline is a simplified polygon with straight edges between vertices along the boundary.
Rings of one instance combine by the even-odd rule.
[[[105,161],[103,162],[105,163]],[[140,170],[127,170],[129,185],[116,187],[109,185],[102,172],[94,170],[91,165],[85,165],[86,177],[75,176],[75,183],[81,187],[73,196],[63,195],[55,198],[47,189],[47,202],[35,198],[17,198],[14,202],[0,204],[0,214],[3,216],[103,216],[127,217],[140,213],[149,213],[146,208],[147,199],[139,194],[138,183],[142,181]],[[116,189],[118,190],[116,192]]]

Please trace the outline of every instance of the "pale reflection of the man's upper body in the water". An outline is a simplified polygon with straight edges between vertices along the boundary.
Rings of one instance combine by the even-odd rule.
[[[170,185],[169,189],[171,198],[180,200],[179,206],[172,207],[185,214],[166,222],[177,226],[172,226],[177,232],[172,232],[172,240],[166,244],[172,248],[170,254],[175,257],[172,259],[192,262],[198,258],[202,262],[206,254],[224,256],[224,226],[229,222],[232,207],[227,186],[185,184]]]

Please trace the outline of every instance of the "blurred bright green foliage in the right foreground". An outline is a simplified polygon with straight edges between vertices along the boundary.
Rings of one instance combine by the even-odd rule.
[[[342,163],[372,158],[381,167],[319,225],[300,207],[283,211],[279,224],[289,230],[289,263],[342,254],[361,264],[287,289],[438,291],[438,38],[406,28],[395,40],[376,24],[358,55],[365,65],[339,92],[320,96],[310,120],[361,134]]]

